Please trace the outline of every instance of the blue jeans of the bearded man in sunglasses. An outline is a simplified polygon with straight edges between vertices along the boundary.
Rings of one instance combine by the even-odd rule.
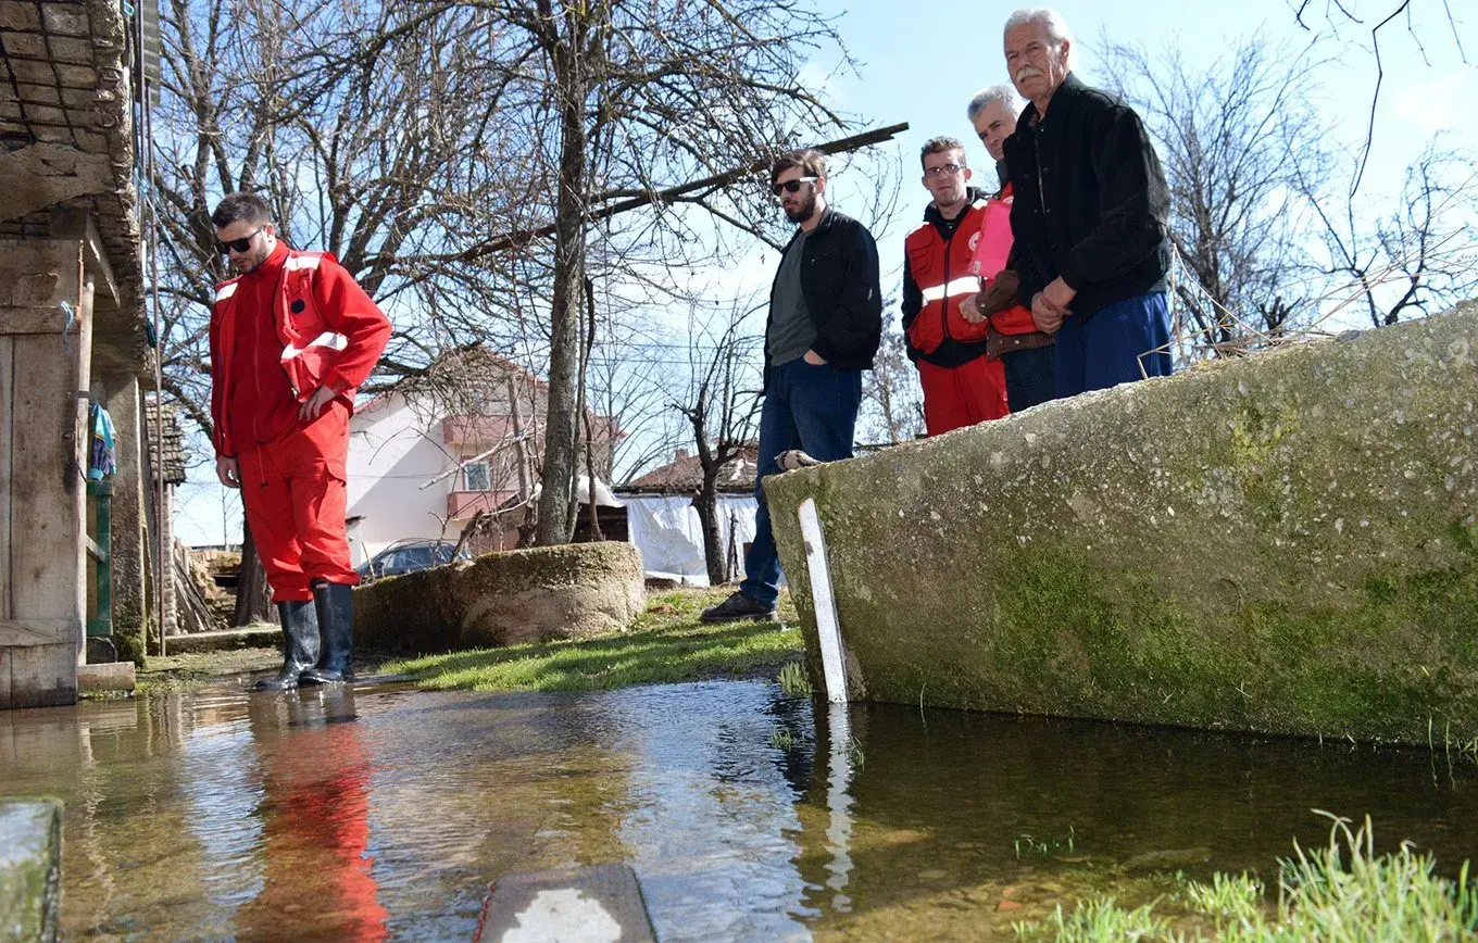
[[[774,460],[791,449],[803,449],[822,461],[851,458],[851,436],[862,404],[862,371],[813,367],[803,358],[767,367],[764,406],[760,409],[760,473],[754,482],[760,508],[739,591],[761,606],[773,606],[780,594],[780,557],[774,551],[770,505],[760,482],[780,470]]]

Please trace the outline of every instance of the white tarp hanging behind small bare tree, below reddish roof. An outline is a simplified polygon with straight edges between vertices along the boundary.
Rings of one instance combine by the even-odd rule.
[[[689,495],[621,495],[627,505],[627,537],[641,551],[647,576],[677,579],[686,585],[708,585],[704,562],[704,525]],[[743,579],[743,545],[754,539],[752,495],[718,495],[718,529],[724,557],[730,539],[739,565],[735,579]]]

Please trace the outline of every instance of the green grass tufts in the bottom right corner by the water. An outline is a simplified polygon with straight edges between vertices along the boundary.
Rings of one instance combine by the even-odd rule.
[[[1224,940],[1274,943],[1404,943],[1406,940],[1478,939],[1478,888],[1463,862],[1456,879],[1435,874],[1429,854],[1409,844],[1391,854],[1375,853],[1370,819],[1351,828],[1329,813],[1329,844],[1302,848],[1278,860],[1278,900],[1264,900],[1250,875],[1215,875],[1210,884],[1181,878],[1174,902],[1157,897],[1129,910],[1113,897],[1063,908],[1045,921],[1015,924],[1018,940],[1097,943],[1108,940]],[[1175,906],[1178,905],[1178,906]],[[1169,913],[1175,906],[1176,912]],[[1172,922],[1174,921],[1174,922]],[[1188,928],[1176,930],[1175,924]]]

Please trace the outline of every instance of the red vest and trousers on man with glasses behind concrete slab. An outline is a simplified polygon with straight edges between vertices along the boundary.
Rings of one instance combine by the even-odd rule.
[[[924,307],[909,324],[909,344],[918,350],[915,364],[924,387],[924,426],[937,436],[964,426],[1007,415],[1007,377],[1001,361],[975,356],[958,367],[928,362],[928,355],[944,338],[962,343],[986,340],[989,325],[970,324],[959,313],[959,302],[980,290],[980,279],[970,272],[986,202],[965,210],[955,234],[946,242],[933,222],[924,222],[907,235],[903,248],[909,272],[924,294]]]

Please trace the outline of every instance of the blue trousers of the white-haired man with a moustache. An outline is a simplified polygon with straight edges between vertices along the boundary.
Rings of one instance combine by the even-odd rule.
[[[1169,344],[1171,312],[1163,291],[1114,302],[1086,322],[1070,316],[1052,346],[1057,398],[1106,390],[1145,375],[1168,377]]]

